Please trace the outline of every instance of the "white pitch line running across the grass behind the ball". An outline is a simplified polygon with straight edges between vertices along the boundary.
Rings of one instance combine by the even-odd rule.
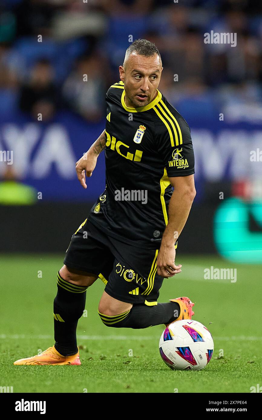
[[[157,336],[85,336],[79,335],[77,337],[79,340],[156,340]],[[34,339],[34,340],[45,340],[45,339],[52,339],[53,336],[51,335],[25,335],[25,334],[0,334],[0,339],[12,339],[12,340],[20,340],[20,339]],[[231,337],[213,337],[214,340],[217,341],[262,341],[262,337],[256,336],[231,336]]]

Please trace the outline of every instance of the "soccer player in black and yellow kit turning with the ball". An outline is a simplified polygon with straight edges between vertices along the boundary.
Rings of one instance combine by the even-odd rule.
[[[85,177],[105,150],[106,188],[72,236],[58,271],[56,342],[15,365],[81,364],[77,322],[97,278],[106,285],[98,314],[108,327],[169,325],[194,315],[187,297],[157,302],[164,278],[181,272],[177,238],[196,194],[190,129],[157,89],[162,70],[153,43],[138,39],[127,49],[120,81],[106,94],[106,129],[76,164],[87,188]]]

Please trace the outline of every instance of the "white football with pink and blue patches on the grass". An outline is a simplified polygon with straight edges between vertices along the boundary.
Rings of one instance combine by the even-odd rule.
[[[211,360],[214,341],[200,322],[191,319],[175,321],[163,331],[159,352],[173,370],[200,370]]]

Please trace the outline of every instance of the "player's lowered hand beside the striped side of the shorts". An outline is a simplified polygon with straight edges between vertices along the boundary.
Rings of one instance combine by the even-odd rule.
[[[157,274],[164,278],[173,277],[180,273],[182,265],[175,264],[175,247],[162,242],[156,261]]]

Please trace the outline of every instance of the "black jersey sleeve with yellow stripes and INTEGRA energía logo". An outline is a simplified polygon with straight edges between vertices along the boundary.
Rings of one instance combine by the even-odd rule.
[[[168,128],[162,125],[157,137],[157,151],[167,169],[167,176],[188,176],[195,173],[190,128],[183,118],[180,118],[179,124]]]

